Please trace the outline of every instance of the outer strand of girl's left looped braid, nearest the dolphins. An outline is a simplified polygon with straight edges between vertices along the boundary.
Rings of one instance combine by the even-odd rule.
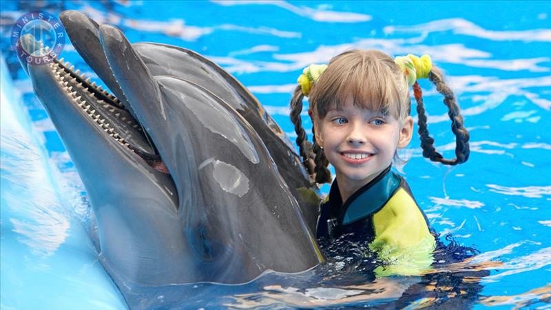
[[[302,112],[302,99],[304,99],[304,94],[302,94],[302,89],[299,85],[295,88],[293,98],[291,99],[291,122],[295,125],[295,132],[297,134],[295,142],[298,145],[300,157],[302,157],[302,164],[306,167],[308,174],[312,175],[314,173],[314,165],[309,160],[312,152],[312,145],[308,142],[308,137],[302,127],[302,119],[300,118],[300,113]]]

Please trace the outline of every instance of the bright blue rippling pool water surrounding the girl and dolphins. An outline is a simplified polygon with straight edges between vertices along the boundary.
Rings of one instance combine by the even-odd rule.
[[[461,302],[448,304],[453,308],[551,307],[549,1],[37,5],[1,2],[1,309],[127,307],[98,262],[94,218],[78,174],[10,46],[12,25],[21,15],[32,10],[57,15],[66,9],[117,25],[131,42],[167,43],[204,54],[246,85],[291,138],[287,106],[306,65],[326,63],[349,48],[395,56],[430,54],[446,72],[470,130],[466,164],[430,163],[414,137],[401,154],[408,163],[398,168],[435,230],[480,251],[469,263],[446,267],[450,272],[489,271],[470,294],[461,297],[461,281],[468,278],[459,277],[455,291],[399,303],[419,277],[375,282],[351,277],[346,284],[320,285],[320,276],[309,271],[268,274],[239,286],[192,284],[160,291],[143,307],[169,300],[191,309],[415,308],[452,300],[454,293]],[[91,73],[69,42],[61,56]],[[451,157],[455,143],[446,108],[430,85],[422,87],[435,145]],[[311,130],[306,115],[304,125]],[[337,259],[328,268],[346,278],[346,261]]]

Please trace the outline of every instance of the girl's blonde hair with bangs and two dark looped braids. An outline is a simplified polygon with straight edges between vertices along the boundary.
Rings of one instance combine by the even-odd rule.
[[[423,156],[445,165],[464,163],[469,156],[469,133],[463,126],[459,105],[450,87],[444,83],[444,76],[436,67],[430,70],[428,79],[436,86],[437,91],[444,95],[444,104],[448,107],[452,131],[456,136],[456,158],[443,158],[433,146],[434,139],[430,137],[426,124],[421,87],[415,82],[413,90],[417,101],[417,124]],[[349,50],[333,57],[309,92],[309,114],[313,118],[313,145],[307,141],[306,132],[302,128],[300,113],[304,94],[300,85],[295,88],[291,99],[291,121],[297,133],[296,143],[303,163],[309,174],[315,176],[316,183],[330,183],[331,172],[327,169],[329,162],[323,149],[315,143],[315,127],[329,110],[339,109],[346,96],[350,95],[353,96],[354,105],[358,107],[392,115],[398,120],[410,115],[411,100],[407,78],[391,56],[377,50]]]

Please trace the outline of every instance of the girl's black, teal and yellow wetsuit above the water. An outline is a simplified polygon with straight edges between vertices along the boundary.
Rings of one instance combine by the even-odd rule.
[[[425,214],[406,180],[392,172],[391,167],[358,189],[344,204],[337,180],[333,181],[329,196],[321,205],[316,230],[318,238],[346,234],[346,240],[368,242],[382,260],[399,262],[390,273],[413,274],[426,269],[435,248],[435,237]]]

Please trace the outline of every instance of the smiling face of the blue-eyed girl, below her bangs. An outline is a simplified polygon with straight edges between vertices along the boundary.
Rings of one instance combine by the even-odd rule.
[[[391,165],[398,147],[408,145],[413,120],[356,107],[347,96],[342,110],[329,110],[317,126],[316,141],[335,167],[339,187],[355,191]]]

